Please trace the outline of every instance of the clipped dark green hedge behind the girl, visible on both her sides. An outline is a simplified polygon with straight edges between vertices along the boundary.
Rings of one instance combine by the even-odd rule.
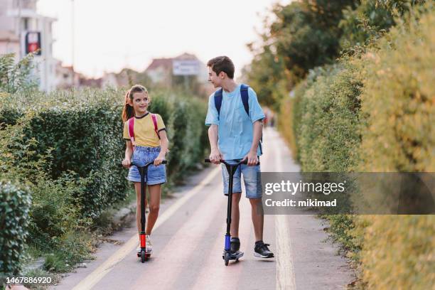
[[[90,178],[82,193],[82,210],[95,217],[126,197],[127,172],[118,166],[124,157],[121,120],[124,91],[78,90],[11,95],[0,100],[0,123],[14,124],[32,112],[23,142],[35,139],[38,154],[50,151],[44,171],[59,178],[67,171]],[[192,98],[170,92],[151,94],[151,112],[167,124],[171,153],[168,178],[180,178],[203,158],[205,107]]]

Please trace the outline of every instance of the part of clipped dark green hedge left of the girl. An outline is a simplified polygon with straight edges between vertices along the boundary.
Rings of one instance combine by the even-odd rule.
[[[123,144],[121,106],[116,92],[53,92],[45,95],[14,95],[2,104],[0,120],[13,124],[16,117],[33,112],[23,142],[35,139],[38,154],[51,151],[50,166],[44,168],[52,178],[65,171],[92,176],[84,194],[83,210],[95,216],[107,205],[125,196],[127,185],[119,178],[124,171],[117,166]],[[22,104],[25,104],[23,106]],[[6,119],[9,117],[9,119]]]

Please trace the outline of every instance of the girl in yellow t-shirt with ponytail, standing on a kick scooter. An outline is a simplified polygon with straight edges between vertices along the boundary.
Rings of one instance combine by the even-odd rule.
[[[136,189],[136,225],[141,230],[141,176],[136,166],[130,166],[131,160],[144,165],[154,160],[154,165],[148,167],[146,184],[149,190],[149,214],[146,218],[146,251],[151,253],[151,231],[159,215],[161,185],[166,183],[166,168],[161,164],[165,160],[168,150],[168,137],[166,128],[159,114],[147,111],[150,104],[148,91],[144,86],[134,85],[125,95],[125,104],[122,111],[124,121],[124,139],[127,140],[127,149],[122,165],[129,168],[127,179],[134,182]],[[130,124],[133,122],[133,124]],[[130,136],[133,134],[133,136]],[[146,206],[147,200],[145,200]],[[136,249],[140,252],[139,247]]]

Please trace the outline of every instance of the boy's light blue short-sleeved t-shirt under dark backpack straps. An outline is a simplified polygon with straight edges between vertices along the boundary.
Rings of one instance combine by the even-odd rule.
[[[248,88],[249,116],[247,115],[240,95],[240,86],[237,85],[232,92],[222,90],[220,114],[215,106],[215,93],[208,99],[205,125],[218,125],[218,146],[225,160],[242,159],[249,153],[254,138],[254,122],[264,119],[257,94],[250,87]],[[257,154],[262,154],[259,148]]]

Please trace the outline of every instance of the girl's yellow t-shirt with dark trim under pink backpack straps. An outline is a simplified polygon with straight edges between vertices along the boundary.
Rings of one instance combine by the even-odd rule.
[[[166,130],[163,119],[155,114],[157,119],[157,131]],[[129,121],[124,123],[124,139],[130,140]],[[143,117],[134,117],[134,144],[136,146],[157,147],[160,146],[160,139],[154,131],[154,123],[151,114],[148,112]]]

